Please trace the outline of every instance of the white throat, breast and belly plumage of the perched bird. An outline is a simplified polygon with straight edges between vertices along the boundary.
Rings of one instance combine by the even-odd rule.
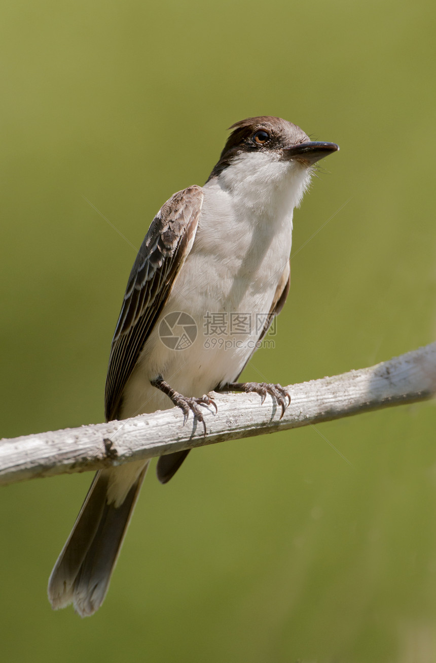
[[[309,176],[289,162],[243,165],[227,168],[203,187],[193,247],[127,383],[123,417],[171,406],[150,385],[157,375],[185,396],[201,396],[235,381],[254,350],[256,325],[270,312],[289,261],[292,213]],[[227,172],[232,168],[233,176]],[[178,311],[195,320],[197,337],[186,349],[173,350],[158,331],[162,318]],[[213,316],[223,322],[215,334]],[[236,328],[235,320],[245,324]]]

